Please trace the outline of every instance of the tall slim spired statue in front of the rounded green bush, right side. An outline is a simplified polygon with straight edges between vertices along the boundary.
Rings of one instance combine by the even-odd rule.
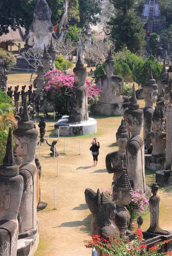
[[[158,99],[158,84],[152,76],[152,67],[149,68],[149,75],[143,85],[143,98],[145,101],[145,107],[143,109],[143,138],[146,139],[148,132],[152,131],[152,116],[154,113],[153,103],[156,103]]]

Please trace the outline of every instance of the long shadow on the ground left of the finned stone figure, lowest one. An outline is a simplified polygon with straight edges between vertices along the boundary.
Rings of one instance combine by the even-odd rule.
[[[63,222],[60,226],[57,227],[80,227],[80,230],[85,233],[90,233],[90,223],[92,215],[88,215],[83,221],[69,221]],[[53,228],[57,228],[53,227]]]

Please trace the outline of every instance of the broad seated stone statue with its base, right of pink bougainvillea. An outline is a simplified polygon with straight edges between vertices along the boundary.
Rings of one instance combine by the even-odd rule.
[[[128,108],[126,103],[129,102],[128,97],[121,95],[124,91],[123,78],[113,75],[114,67],[115,61],[110,50],[105,61],[106,75],[97,77],[97,86],[101,92],[99,101],[91,109],[92,113],[117,116],[123,115],[123,112]],[[123,105],[121,105],[122,103]]]

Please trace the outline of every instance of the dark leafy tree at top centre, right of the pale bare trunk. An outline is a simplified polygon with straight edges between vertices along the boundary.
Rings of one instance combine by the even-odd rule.
[[[79,0],[80,22],[77,25],[84,28],[87,23],[96,25],[100,21],[102,0]]]

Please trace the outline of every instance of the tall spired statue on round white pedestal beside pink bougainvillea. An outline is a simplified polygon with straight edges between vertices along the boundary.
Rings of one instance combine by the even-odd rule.
[[[77,64],[73,69],[73,72],[75,83],[73,85],[72,102],[71,99],[69,99],[70,105],[72,106],[72,114],[69,116],[69,123],[89,121],[88,96],[85,86],[86,67],[84,67],[83,63],[81,62],[79,53]]]

